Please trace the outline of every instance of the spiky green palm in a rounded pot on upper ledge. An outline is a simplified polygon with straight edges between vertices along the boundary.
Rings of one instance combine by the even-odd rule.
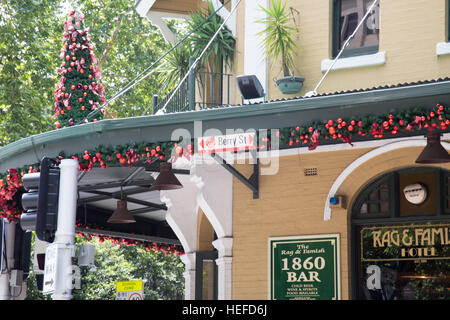
[[[293,9],[286,10],[286,2],[271,0],[269,8],[260,8],[267,14],[257,22],[265,25],[259,35],[264,36],[262,45],[266,49],[266,55],[278,61],[281,58],[283,77],[276,79],[276,84],[281,92],[293,94],[300,91],[305,78],[294,73],[294,56],[298,49],[293,37],[298,34],[295,25]],[[294,21],[294,25],[291,24]]]

